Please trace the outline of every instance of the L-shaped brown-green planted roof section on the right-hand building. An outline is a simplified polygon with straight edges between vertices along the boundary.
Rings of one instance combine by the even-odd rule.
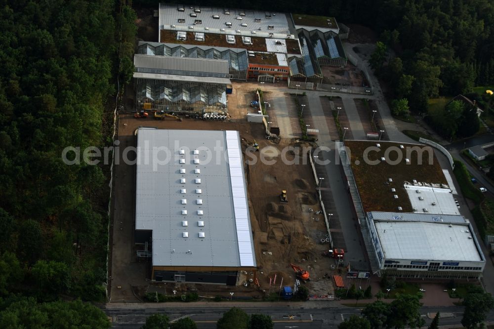
[[[369,147],[376,147],[380,144],[380,151],[369,150]],[[404,148],[401,149],[400,145]],[[404,188],[404,182],[412,183],[424,182],[430,184],[447,184],[446,177],[442,171],[441,165],[432,152],[432,163],[429,164],[429,155],[427,152],[422,154],[422,164],[418,164],[418,153],[410,152],[412,147],[429,147],[422,144],[406,144],[395,142],[377,142],[377,141],[345,141],[345,146],[350,149],[350,160],[352,172],[355,177],[357,189],[359,190],[362,205],[366,211],[397,211],[401,206],[404,212],[412,212],[412,204],[408,197],[407,191]],[[381,157],[385,157],[386,150],[393,147],[393,151],[389,152],[390,161],[381,161]],[[367,159],[370,161],[378,161],[377,164],[369,164],[365,161],[365,151]],[[407,154],[407,151],[410,152]],[[401,153],[402,161],[398,164],[392,164],[398,158],[398,153]],[[386,158],[386,157],[385,157]],[[405,159],[409,159],[407,163]],[[393,181],[389,182],[389,178]],[[396,189],[391,192],[391,189]],[[398,199],[394,199],[393,195],[397,195]]]

